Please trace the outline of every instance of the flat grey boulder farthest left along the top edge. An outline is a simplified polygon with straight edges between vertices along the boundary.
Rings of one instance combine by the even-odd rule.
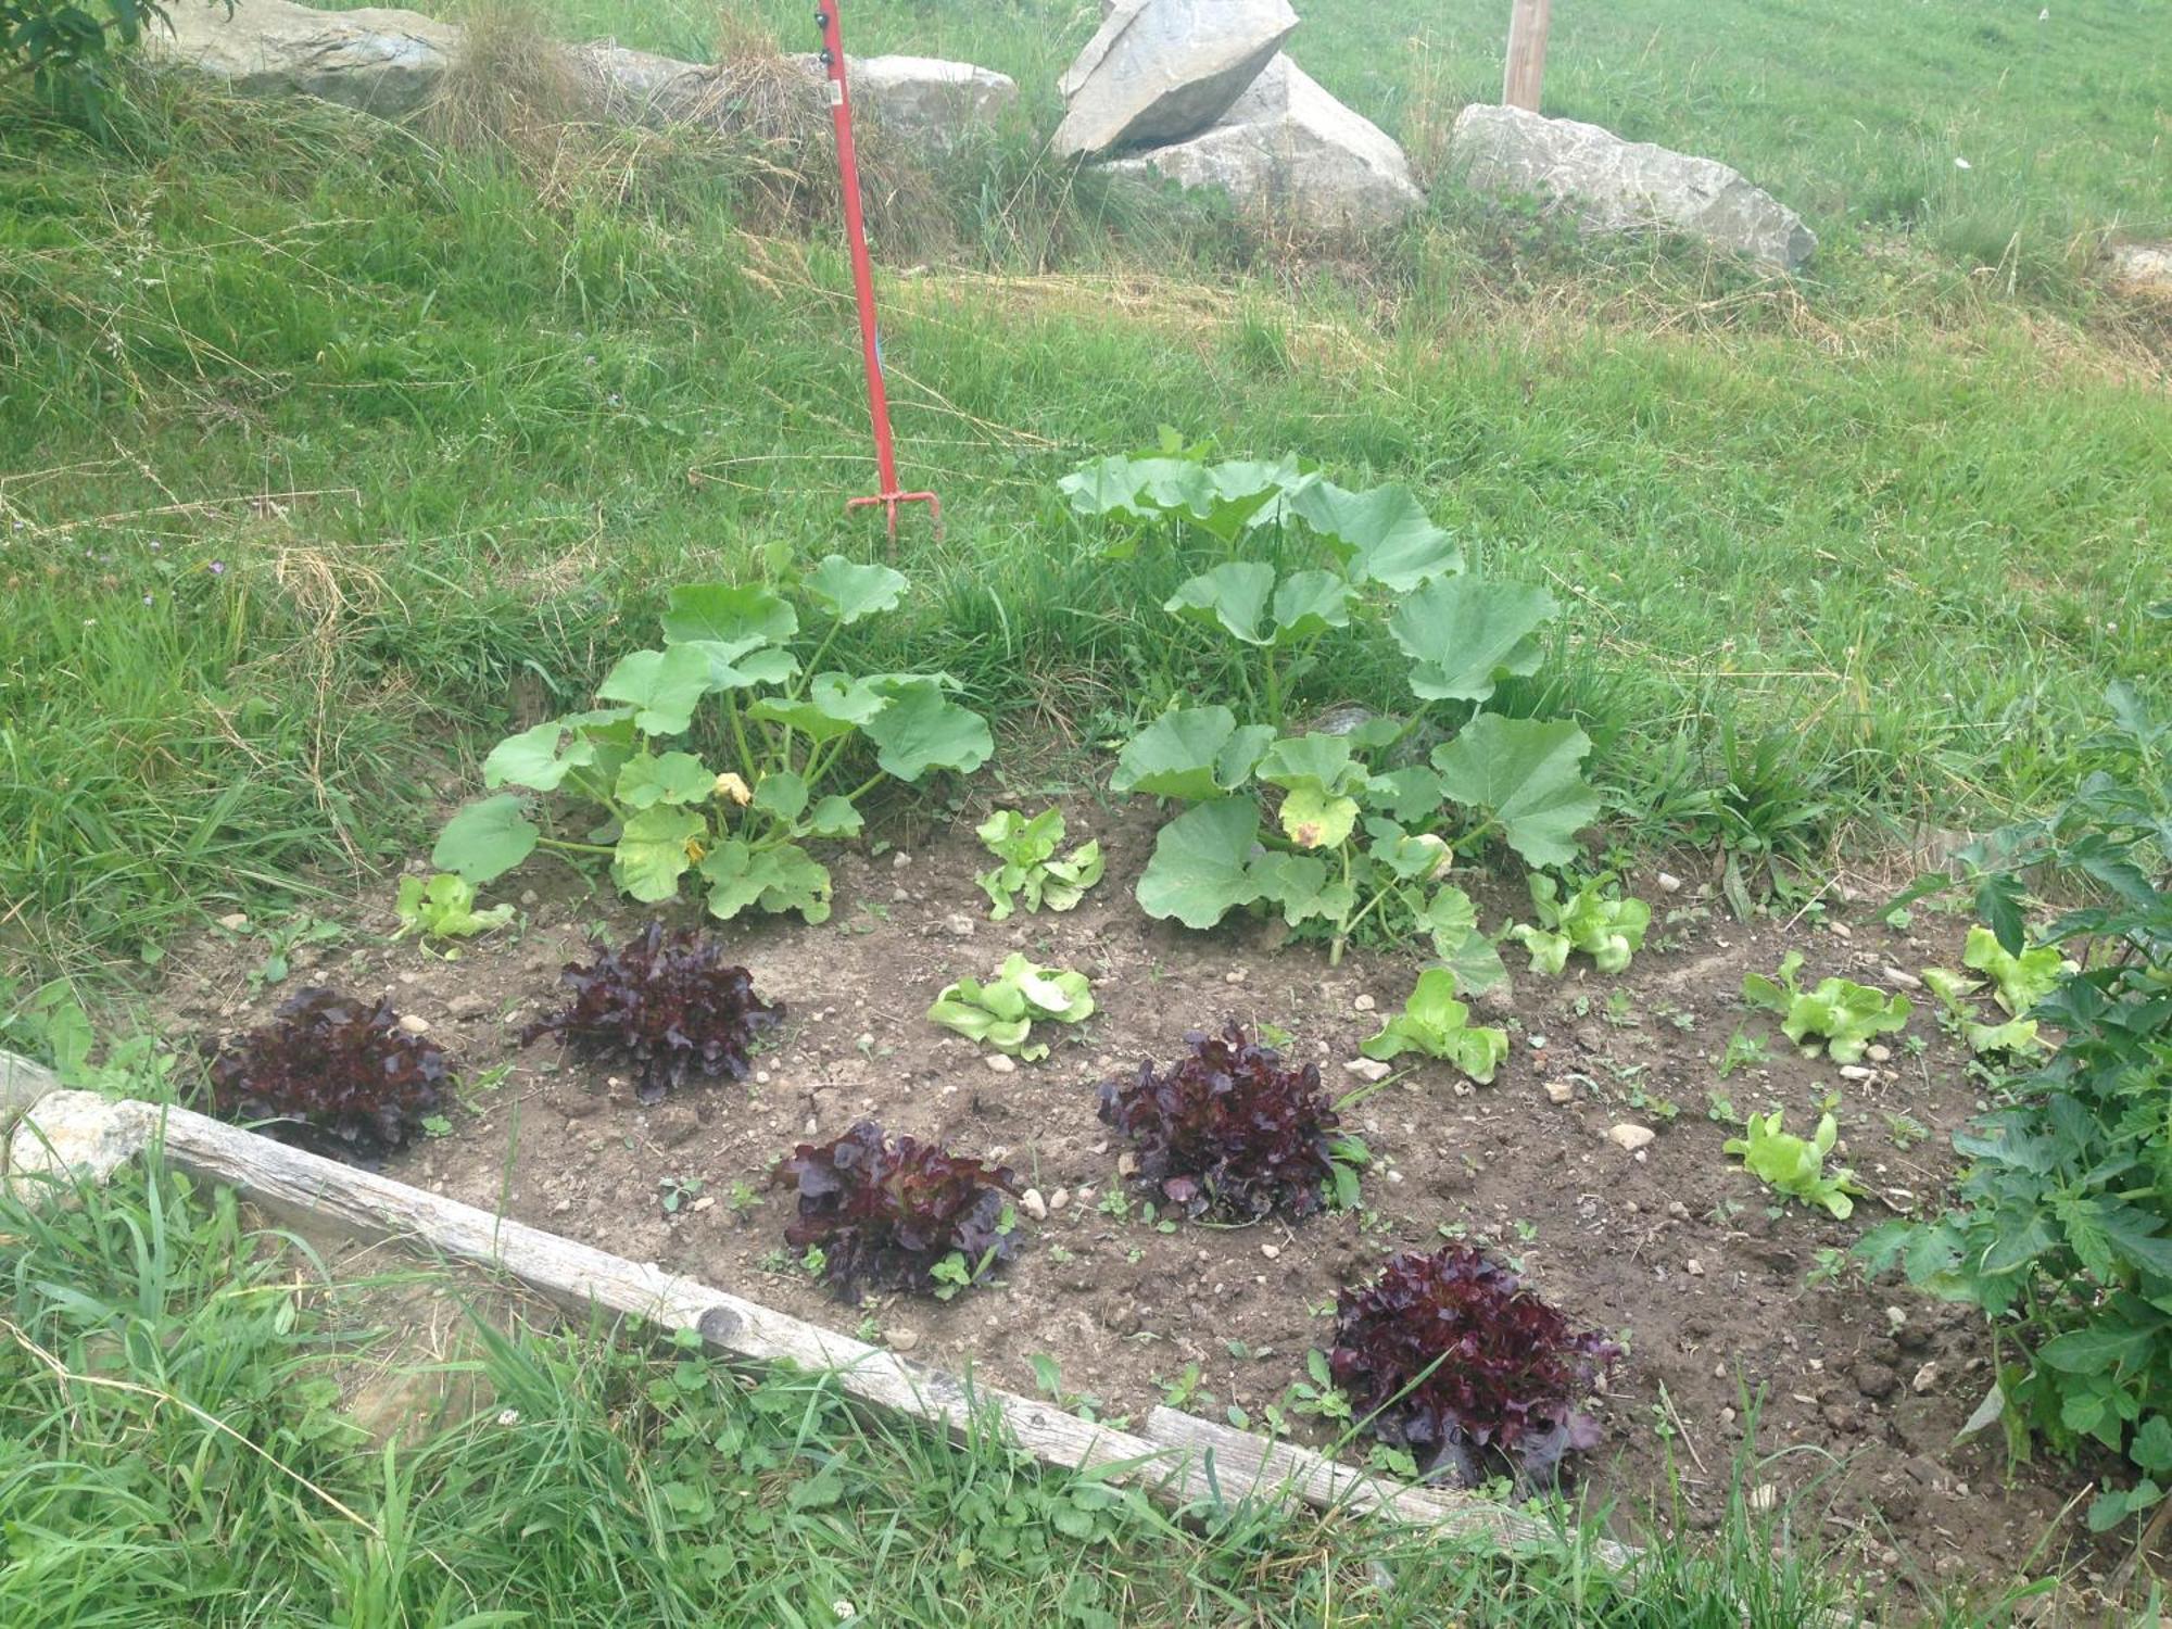
[[[250,96],[317,96],[397,119],[419,111],[460,50],[460,30],[419,11],[313,11],[293,0],[167,9],[152,48]]]

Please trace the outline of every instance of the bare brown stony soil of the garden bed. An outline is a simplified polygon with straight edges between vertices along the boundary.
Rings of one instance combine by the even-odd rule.
[[[1627,975],[1579,975],[1583,958],[1559,982],[1518,975],[1512,993],[1479,1003],[1514,1040],[1492,1086],[1420,1062],[1344,1114],[1375,1160],[1368,1210],[1295,1227],[1171,1227],[1147,1221],[1138,1192],[1112,1214],[1125,1147],[1097,1119],[1097,1084],[1142,1058],[1169,1060],[1186,1030],[1234,1016],[1286,1030],[1292,1056],[1316,1058],[1336,1090],[1358,1088],[1344,1064],[1401,1006],[1418,962],[1351,951],[1331,969],[1323,949],[1281,945],[1268,923],[1212,934],[1153,923],[1132,901],[1151,812],[1073,801],[1066,817],[1071,843],[1099,836],[1110,858],[1108,880],[1069,914],[986,919],[973,810],[910,847],[834,856],[830,925],[721,927],[786,1023],[749,1082],[654,1108],[560,1062],[550,1043],[515,1043],[593,934],[621,938],[647,919],[563,869],[532,864],[521,925],[458,960],[387,945],[384,895],[354,906],[341,943],[298,949],[285,986],[252,986],[263,962],[252,930],[213,934],[169,958],[182,971],[167,984],[167,1016],[230,1032],[302,982],[382,990],[428,1023],[467,1079],[454,1132],[400,1156],[391,1175],[808,1321],[880,1329],[899,1351],[1012,1390],[1034,1392],[1030,1360],[1053,1358],[1062,1392],[1090,1399],[1101,1418],[1164,1399],[1216,1418],[1288,1414],[1342,1286],[1444,1234],[1490,1240],[1579,1325],[1629,1347],[1599,1399],[1605,1440],[1577,1477],[1581,1497],[1625,1512],[1625,1527],[1655,1505],[1712,1527],[1755,1427],[1751,1503],[1803,1494],[1798,1525],[1822,1523],[1827,1542],[1853,1546],[1903,1590],[1990,1583],[2031,1555],[2040,1575],[2061,1557],[2089,1573],[2118,1559],[2089,1553],[2074,1516],[2087,1470],[2009,1473],[1996,1429],[1955,1442],[1990,1388],[1977,1318],[1855,1273],[1814,1281],[1866,1225],[1935,1203],[1953,1166],[1946,1138],[1981,1108],[1966,1051],[1918,997],[1907,1034],[1885,1038],[1868,1077],[1842,1077],[1740,1003],[1742,973],[1772,971],[1790,947],[1805,951],[1805,977],[1894,988],[1887,969],[1957,964],[1966,923],[1931,917],[1898,934],[1835,906],[1742,925],[1709,886],[1666,893],[1657,873],[1631,877],[1657,919]],[[1497,888],[1481,919],[1518,904],[1520,888]],[[680,906],[667,921],[697,914]],[[923,1016],[945,982],[990,973],[1010,949],[1095,984],[1099,1012],[1051,1034],[1053,1056],[1038,1064],[1006,1066]],[[1514,947],[1507,960],[1523,964]],[[1738,1030],[1764,1038],[1768,1058],[1722,1079],[1716,1062]],[[1718,1095],[1742,1112],[1783,1106],[1790,1127],[1807,1129],[1831,1093],[1842,1158],[1870,1188],[1848,1223],[1775,1210],[1775,1195],[1720,1149],[1735,1127],[1707,1114]],[[845,1305],[788,1260],[793,1197],[769,1184],[771,1164],[860,1119],[1001,1160],[1036,1190],[1047,1221],[1030,1223],[993,1286],[951,1303]],[[1629,1153],[1607,1136],[1620,1125],[1657,1136]],[[1299,1436],[1331,1436],[1292,1418]]]

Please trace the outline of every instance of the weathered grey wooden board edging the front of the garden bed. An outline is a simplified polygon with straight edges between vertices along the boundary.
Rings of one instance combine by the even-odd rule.
[[[604,1308],[656,1329],[693,1329],[730,1360],[832,1371],[854,1401],[954,1438],[995,1416],[1043,1464],[1138,1481],[1179,1510],[1260,1499],[1381,1512],[1501,1546],[1555,1538],[1544,1523],[1475,1494],[1410,1488],[1166,1407],[1151,1412],[1145,1434],[1090,1425],[1051,1403],[975,1386],[971,1375],[930,1368],[654,1264],[628,1262],[189,1110],[96,1103],[80,1093],[54,1101],[63,1099],[76,1119],[104,1116],[104,1125],[93,1127],[102,1132],[93,1138],[102,1147],[135,1153],[163,1140],[172,1169],[228,1186],[278,1221],[319,1234],[395,1240],[441,1260],[504,1271],[573,1312]],[[1601,1553],[1609,1562],[1633,1555],[1614,1544]]]

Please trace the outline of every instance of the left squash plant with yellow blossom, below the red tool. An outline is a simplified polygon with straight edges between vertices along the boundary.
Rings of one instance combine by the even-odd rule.
[[[823,667],[841,630],[897,606],[904,576],[832,554],[788,586],[799,604],[760,582],[673,589],[662,645],[619,658],[602,706],[491,749],[493,795],[445,825],[432,864],[480,884],[543,847],[606,858],[643,904],[678,897],[693,873],[712,917],[752,906],[823,921],[830,871],[804,845],[858,836],[858,799],[884,780],[971,773],[993,741],[988,721],[951,699],[949,673]],[[801,606],[819,628],[806,660]],[[695,749],[697,721],[717,743],[704,745],[710,756]],[[567,836],[550,797],[586,808],[593,825]]]

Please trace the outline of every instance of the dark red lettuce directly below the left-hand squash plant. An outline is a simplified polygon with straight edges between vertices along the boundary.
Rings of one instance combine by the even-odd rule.
[[[576,1058],[632,1075],[643,1103],[689,1075],[745,1079],[747,1043],[784,1012],[754,993],[747,969],[730,967],[710,934],[665,938],[652,921],[619,949],[593,949],[593,962],[567,962],[558,975],[573,999],[521,1030],[521,1045],[558,1036]]]

